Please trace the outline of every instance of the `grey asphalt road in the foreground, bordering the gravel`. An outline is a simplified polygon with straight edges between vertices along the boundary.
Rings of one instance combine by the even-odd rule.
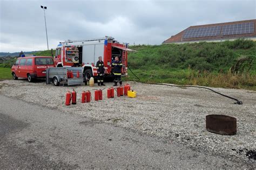
[[[86,110],[85,110],[86,112]],[[252,168],[0,95],[0,168]]]

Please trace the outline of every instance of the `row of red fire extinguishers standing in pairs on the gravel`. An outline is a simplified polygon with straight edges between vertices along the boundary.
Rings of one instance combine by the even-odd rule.
[[[119,86],[117,88],[108,88],[107,89],[107,98],[113,98],[114,97],[114,90],[117,91],[117,96],[124,96],[129,93],[131,89],[130,84],[125,84],[125,86]],[[95,90],[95,101],[98,100],[102,100],[102,91],[104,89],[99,89],[99,90]],[[81,98],[81,103],[87,103],[87,102],[91,102],[91,92],[89,90],[87,91],[82,91],[82,98]],[[72,102],[71,102],[72,101]],[[65,105],[70,105],[70,102],[72,104],[76,104],[77,103],[77,92],[75,91],[75,89],[73,89],[73,91],[70,93],[70,91],[68,91],[66,93],[66,102]]]

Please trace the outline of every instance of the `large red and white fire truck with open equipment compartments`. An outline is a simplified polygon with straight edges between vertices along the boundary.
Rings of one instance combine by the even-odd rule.
[[[119,43],[112,37],[89,40],[67,40],[60,42],[56,48],[54,62],[56,67],[83,67],[85,79],[97,76],[96,62],[102,56],[105,75],[111,75],[112,62],[118,56],[123,63],[122,75],[127,75],[127,43]]]

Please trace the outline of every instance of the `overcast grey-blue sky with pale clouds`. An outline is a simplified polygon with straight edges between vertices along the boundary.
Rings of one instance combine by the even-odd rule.
[[[161,44],[191,25],[256,18],[256,1],[3,1],[0,52],[47,49],[59,41],[112,36],[130,44]]]

